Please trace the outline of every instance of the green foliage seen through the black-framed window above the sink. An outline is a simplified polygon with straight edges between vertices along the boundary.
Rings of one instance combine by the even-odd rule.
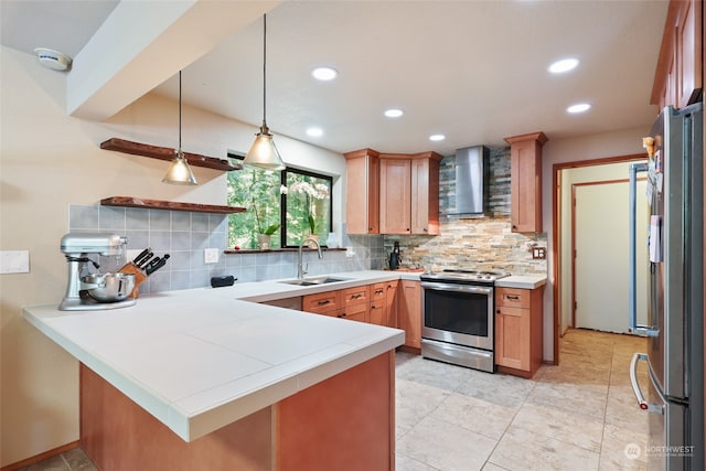
[[[298,247],[310,234],[325,244],[331,231],[331,186],[329,176],[293,169],[280,173],[246,167],[229,172],[228,205],[247,212],[228,215],[228,246],[254,249],[258,234],[268,233],[270,248]]]

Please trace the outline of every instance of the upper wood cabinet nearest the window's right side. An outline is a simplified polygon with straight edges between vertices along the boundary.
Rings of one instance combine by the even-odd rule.
[[[347,233],[379,234],[379,153],[362,149],[343,156]]]

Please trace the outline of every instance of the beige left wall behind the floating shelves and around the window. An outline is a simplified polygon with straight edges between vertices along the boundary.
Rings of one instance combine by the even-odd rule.
[[[175,146],[176,103],[148,95],[107,122],[85,121],[66,116],[64,74],[7,47],[0,63],[0,249],[29,249],[31,264],[29,274],[0,275],[0,465],[7,465],[78,439],[77,363],[21,317],[22,306],[62,299],[66,263],[58,244],[68,205],[118,195],[226,204],[226,178],[194,168],[199,186],[165,185],[167,162],[99,149],[110,137]],[[183,108],[182,148],[189,152],[225,158],[227,150],[247,151],[256,131]],[[345,174],[341,154],[275,139],[287,163]],[[336,228],[344,217],[343,180],[336,178],[333,190]]]

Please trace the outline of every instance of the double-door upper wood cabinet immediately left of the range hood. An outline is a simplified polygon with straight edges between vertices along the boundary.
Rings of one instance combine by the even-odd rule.
[[[436,152],[379,156],[381,234],[439,234]]]

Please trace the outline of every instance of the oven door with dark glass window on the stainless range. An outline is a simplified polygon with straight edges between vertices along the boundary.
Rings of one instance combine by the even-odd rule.
[[[493,350],[493,288],[421,283],[421,338]]]

